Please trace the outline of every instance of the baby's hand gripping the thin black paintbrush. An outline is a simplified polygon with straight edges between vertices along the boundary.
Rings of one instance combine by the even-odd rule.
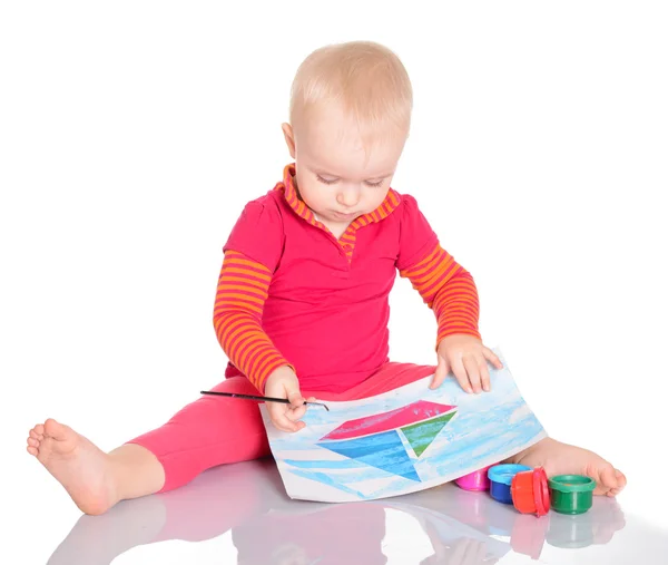
[[[295,372],[287,366],[276,369],[265,383],[267,397],[287,398],[289,405],[266,402],[272,423],[282,431],[299,431],[306,425],[299,421],[306,413],[304,397],[299,392],[299,381]],[[310,399],[311,400],[311,399]],[[315,400],[315,399],[312,399]]]

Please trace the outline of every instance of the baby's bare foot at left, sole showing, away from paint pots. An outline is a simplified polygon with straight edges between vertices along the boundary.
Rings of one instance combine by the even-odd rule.
[[[48,419],[30,430],[28,452],[65,487],[79,509],[99,515],[117,503],[107,454],[68,426]]]

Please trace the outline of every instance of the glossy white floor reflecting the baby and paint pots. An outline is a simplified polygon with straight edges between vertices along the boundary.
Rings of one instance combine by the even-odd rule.
[[[20,563],[49,555],[49,565],[665,565],[668,556],[668,533],[615,499],[598,497],[581,516],[542,518],[452,485],[373,503],[304,503],[287,498],[271,459],[212,469],[101,517],[48,526],[46,515],[36,517],[31,545],[53,529],[66,535],[46,553],[30,547],[40,559]]]

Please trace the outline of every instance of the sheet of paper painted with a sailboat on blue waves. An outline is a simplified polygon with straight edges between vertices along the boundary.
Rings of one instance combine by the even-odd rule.
[[[404,495],[511,457],[547,436],[505,360],[492,390],[464,392],[428,377],[383,394],[311,407],[306,428],[287,434],[261,406],[272,454],[291,498],[344,503]]]

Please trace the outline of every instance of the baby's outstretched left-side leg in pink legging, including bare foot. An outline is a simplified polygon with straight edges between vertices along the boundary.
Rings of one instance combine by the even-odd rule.
[[[242,377],[214,390],[256,392]],[[176,488],[215,465],[269,454],[257,405],[220,397],[199,398],[165,426],[109,454],[49,419],[30,430],[28,451],[94,515],[122,499]]]

